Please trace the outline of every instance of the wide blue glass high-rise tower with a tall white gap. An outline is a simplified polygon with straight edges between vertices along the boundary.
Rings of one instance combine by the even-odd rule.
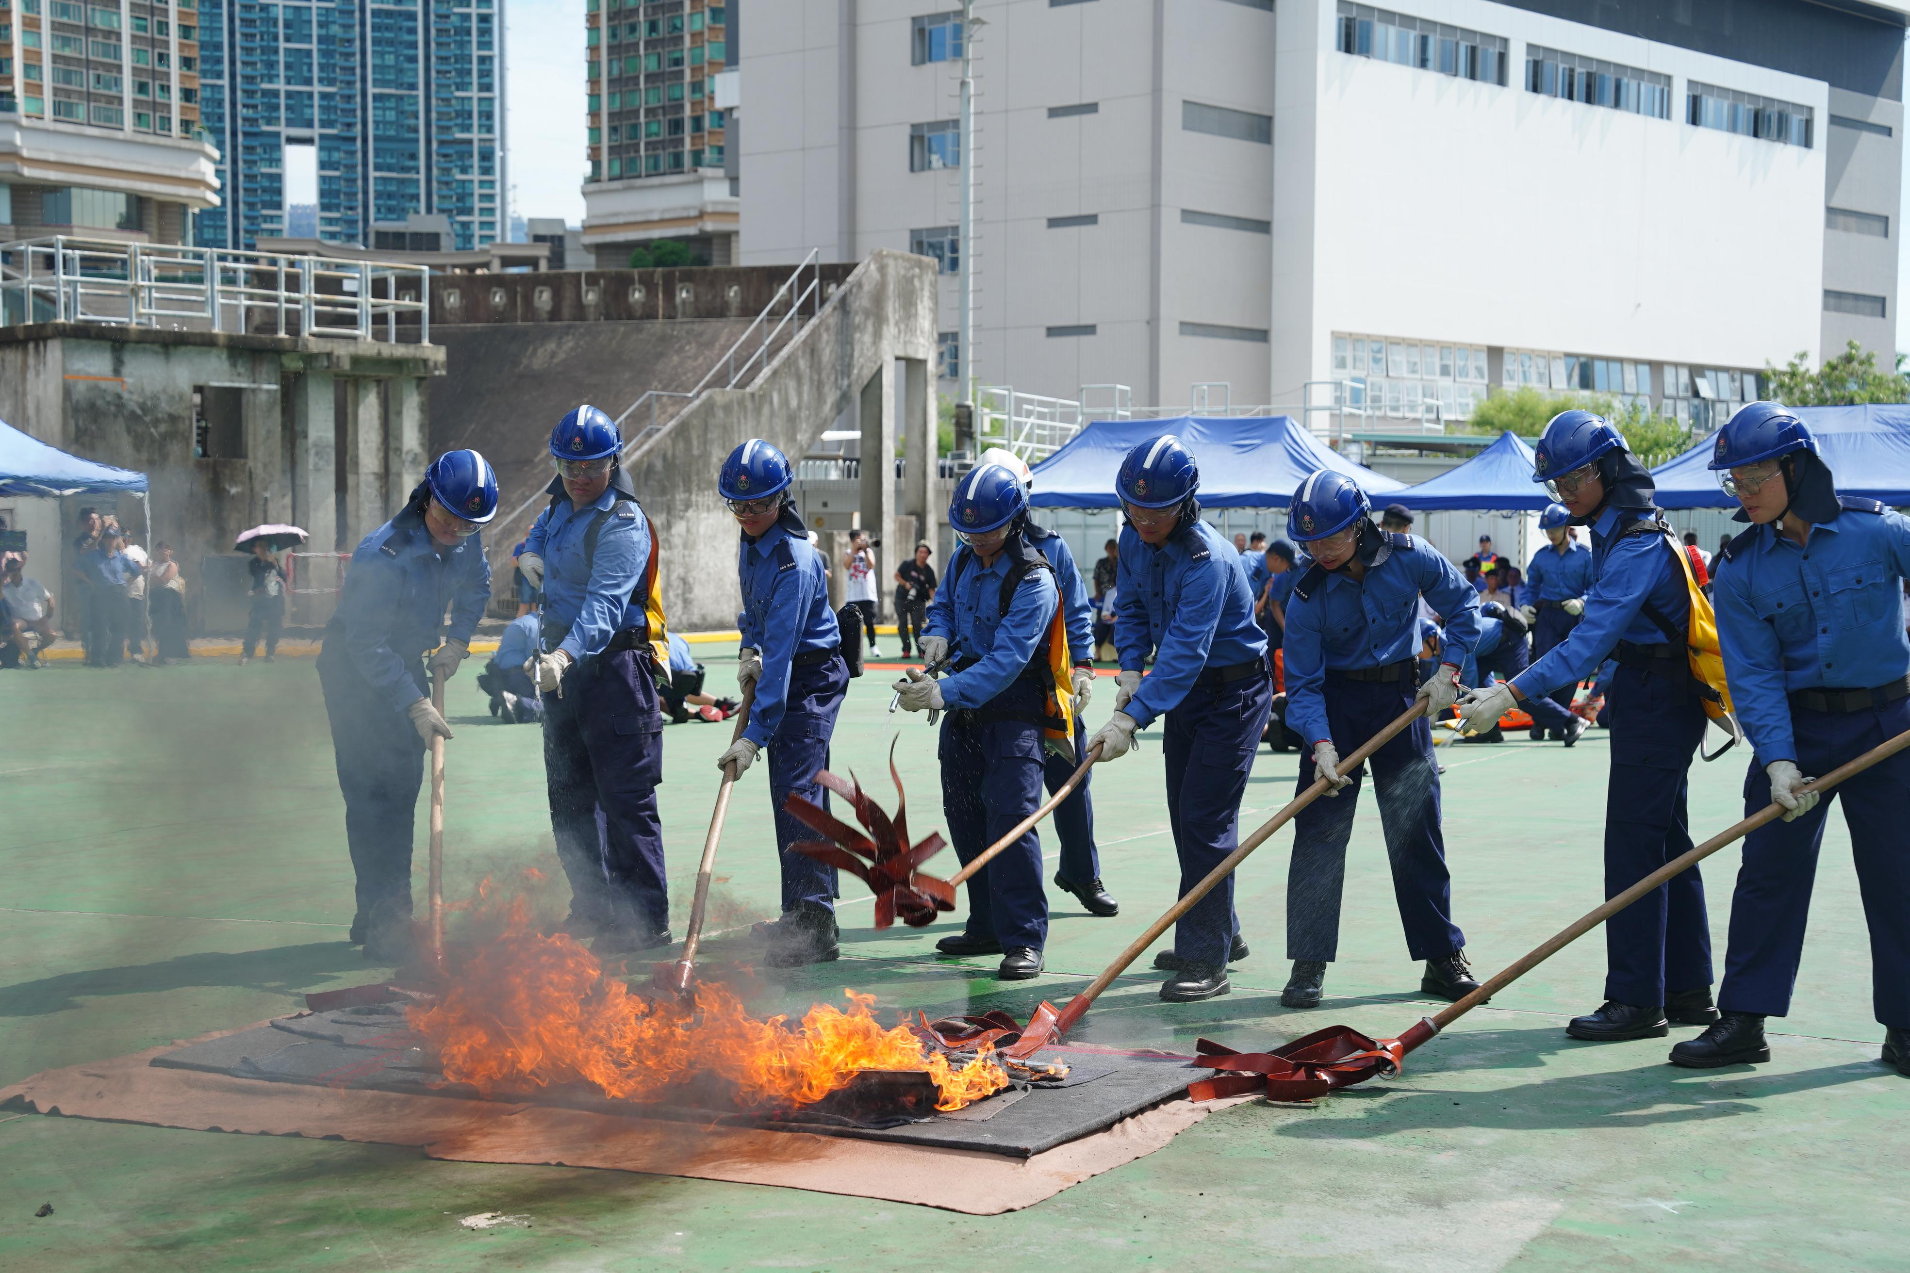
[[[317,235],[443,216],[460,252],[506,239],[504,0],[201,0],[204,126],[225,206],[201,244],[285,237],[286,155],[315,147]]]

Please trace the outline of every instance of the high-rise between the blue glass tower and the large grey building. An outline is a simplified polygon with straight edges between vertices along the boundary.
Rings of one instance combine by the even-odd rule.
[[[588,176],[583,246],[605,265],[670,239],[735,263],[730,118],[714,80],[735,63],[735,0],[586,0]]]

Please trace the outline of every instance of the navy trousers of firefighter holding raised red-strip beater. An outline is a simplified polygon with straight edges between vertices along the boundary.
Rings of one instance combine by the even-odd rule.
[[[955,857],[966,866],[982,849],[1041,807],[1041,725],[1001,712],[1037,716],[1041,689],[1016,679],[976,712],[942,718],[942,815]],[[1049,899],[1041,889],[1041,836],[1028,828],[968,880],[972,937],[1039,950],[1049,941]]]

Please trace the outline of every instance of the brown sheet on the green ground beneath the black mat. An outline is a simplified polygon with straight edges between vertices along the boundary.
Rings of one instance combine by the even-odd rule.
[[[258,1082],[149,1063],[162,1052],[229,1033],[42,1071],[0,1088],[0,1109],[195,1132],[416,1145],[432,1158],[453,1162],[590,1166],[728,1179],[993,1216],[1031,1206],[1146,1157],[1209,1111],[1253,1099],[1196,1105],[1182,1097],[1031,1158],[1008,1158],[806,1132],[699,1128],[548,1105]]]

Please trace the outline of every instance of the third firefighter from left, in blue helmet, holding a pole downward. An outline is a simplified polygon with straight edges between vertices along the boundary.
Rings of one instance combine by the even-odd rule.
[[[816,773],[829,767],[829,739],[848,691],[842,632],[829,609],[829,573],[796,515],[793,481],[789,458],[756,437],[732,450],[716,477],[716,492],[741,529],[735,569],[743,588],[743,613],[737,615],[743,649],[735,678],[745,691],[756,687],[743,737],[716,767],[733,765],[741,779],[764,748],[770,752],[783,912],[756,931],[768,939],[766,960],[775,968],[838,956],[835,866],[791,851],[814,834],[783,803],[802,796],[829,807],[829,792]]]

